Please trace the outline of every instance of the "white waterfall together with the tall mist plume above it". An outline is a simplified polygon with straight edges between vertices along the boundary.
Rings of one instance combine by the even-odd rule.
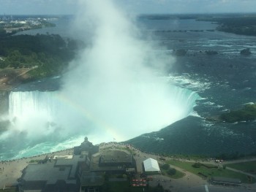
[[[161,78],[173,58],[141,41],[113,1],[80,1],[80,7],[74,28],[88,46],[70,64],[60,91],[10,94],[12,134],[0,140],[18,135],[28,150],[40,143],[50,150],[81,135],[94,143],[120,142],[192,112],[197,93]]]

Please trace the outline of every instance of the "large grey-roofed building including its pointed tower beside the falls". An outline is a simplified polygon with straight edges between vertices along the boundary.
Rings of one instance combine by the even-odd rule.
[[[74,155],[47,156],[41,164],[29,164],[20,177],[19,191],[80,191],[81,183],[89,181],[88,174],[85,176],[83,172],[89,171],[91,155],[98,152],[99,146],[92,145],[86,137],[80,146],[74,148]],[[95,175],[89,176],[89,183],[95,184]]]

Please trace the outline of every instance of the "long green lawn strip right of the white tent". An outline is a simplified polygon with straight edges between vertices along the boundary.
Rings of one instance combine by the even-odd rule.
[[[237,172],[232,172],[232,171],[227,170],[227,169],[222,169],[222,168],[208,169],[205,166],[200,166],[200,168],[195,168],[195,167],[192,166],[192,164],[194,164],[194,163],[181,162],[181,161],[168,161],[168,164],[171,164],[173,166],[178,166],[181,169],[185,169],[188,172],[192,172],[194,174],[197,174],[200,177],[203,177],[203,175],[205,175],[206,177],[203,177],[203,178],[229,177],[229,178],[240,179],[242,183],[255,183],[256,182],[254,178],[252,178],[252,180],[250,181],[249,178],[247,177],[247,175],[237,173]],[[203,175],[198,174],[199,172],[202,173]]]

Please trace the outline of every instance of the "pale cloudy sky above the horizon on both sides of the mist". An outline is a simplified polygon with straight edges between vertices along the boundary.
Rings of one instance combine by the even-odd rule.
[[[0,0],[0,15],[74,14],[79,0]],[[80,0],[83,1],[83,0]],[[91,0],[93,1],[93,0]],[[102,0],[104,1],[104,0]],[[138,13],[256,12],[256,0],[114,0]],[[102,7],[104,9],[104,7]]]

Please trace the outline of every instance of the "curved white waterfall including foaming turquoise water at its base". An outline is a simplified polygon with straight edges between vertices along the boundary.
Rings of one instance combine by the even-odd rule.
[[[67,95],[63,99],[61,91],[11,92],[9,116],[12,132],[7,139],[7,136],[0,136],[0,145],[12,150],[5,150],[0,155],[19,158],[47,153],[53,148],[62,150],[72,147],[84,135],[94,143],[109,142],[113,138],[121,142],[186,118],[193,111],[195,101],[200,99],[196,92],[175,85],[164,91],[167,93],[159,93],[159,90],[162,89],[154,85],[138,85],[134,90],[138,93],[138,101],[131,96],[129,103],[121,107],[110,102],[111,109],[107,110],[106,106],[100,110],[100,104],[105,102],[101,103],[97,96],[92,101],[79,96],[72,101]],[[116,105],[120,105],[119,101]],[[15,138],[22,140],[23,145]]]

